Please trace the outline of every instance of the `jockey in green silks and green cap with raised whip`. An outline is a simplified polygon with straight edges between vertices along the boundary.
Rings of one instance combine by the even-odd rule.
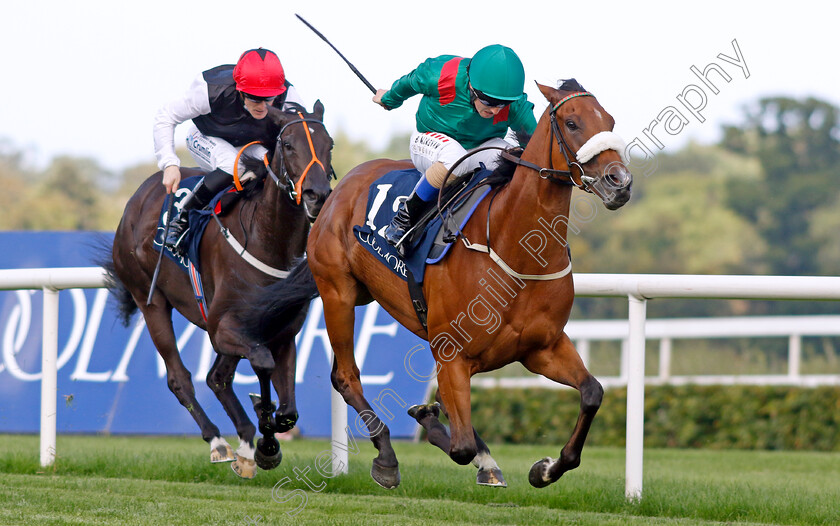
[[[454,55],[430,58],[403,76],[389,90],[377,90],[373,101],[387,110],[421,94],[417,130],[409,152],[423,177],[400,205],[385,230],[385,239],[406,255],[399,243],[438,195],[452,165],[467,152],[484,146],[507,148],[508,130],[534,133],[534,105],[523,93],[525,69],[509,47],[499,44],[480,49],[471,59]],[[483,163],[498,165],[499,150],[477,152],[459,164],[453,175],[472,172]],[[453,178],[454,180],[454,178]]]

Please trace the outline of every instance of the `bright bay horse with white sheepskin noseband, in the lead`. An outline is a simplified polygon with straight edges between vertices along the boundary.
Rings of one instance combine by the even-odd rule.
[[[472,427],[470,377],[517,361],[581,396],[577,422],[559,458],[534,463],[530,483],[547,486],[580,464],[603,388],[564,332],[574,299],[566,243],[572,190],[589,191],[614,210],[630,199],[632,175],[624,142],[612,131],[615,121],[591,93],[574,79],[557,89],[538,86],[549,104],[509,181],[478,205],[461,231],[462,242],[446,259],[426,269],[427,327],[406,283],[386,271],[353,233],[354,225],[365,223],[371,184],[391,170],[412,167],[385,159],[357,166],[335,188],[310,232],[308,264],[289,277],[296,286],[269,285],[249,302],[253,310],[240,314],[255,319],[265,313],[262,326],[252,329],[262,334],[257,337],[270,337],[285,330],[286,320],[308,304],[317,287],[335,354],[333,386],[367,425],[379,452],[371,476],[385,488],[399,484],[399,465],[388,427],[364,397],[353,355],[354,306],[373,300],[429,342],[441,407],[412,406],[409,415],[455,462],[476,464],[479,483],[484,473],[484,483],[504,485],[494,483],[501,472]],[[438,420],[440,409],[448,415],[451,437]]]

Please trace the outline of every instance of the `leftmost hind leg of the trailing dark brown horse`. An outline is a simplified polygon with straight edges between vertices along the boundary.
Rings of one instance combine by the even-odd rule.
[[[175,329],[172,327],[172,307],[168,303],[164,305],[163,302],[166,300],[159,299],[160,296],[160,294],[156,295],[150,306],[146,306],[145,302],[140,302],[140,310],[146,320],[152,342],[166,365],[166,385],[198,424],[201,429],[201,438],[210,444],[212,461],[213,451],[224,442],[224,439],[221,438],[219,428],[210,421],[195,398],[192,374],[184,367],[184,362],[181,361],[181,355],[178,353]]]

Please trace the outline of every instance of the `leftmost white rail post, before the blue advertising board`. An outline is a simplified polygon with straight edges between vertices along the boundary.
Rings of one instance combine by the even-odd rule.
[[[44,288],[41,342],[41,466],[55,462],[58,398],[58,291]]]

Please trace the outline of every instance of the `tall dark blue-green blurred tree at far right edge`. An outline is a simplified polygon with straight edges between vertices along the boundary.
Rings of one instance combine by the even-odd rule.
[[[722,145],[755,157],[760,181],[729,187],[728,206],[755,225],[774,274],[837,273],[840,201],[838,108],[815,98],[764,98],[744,122],[724,128]],[[816,257],[815,257],[816,256]]]

